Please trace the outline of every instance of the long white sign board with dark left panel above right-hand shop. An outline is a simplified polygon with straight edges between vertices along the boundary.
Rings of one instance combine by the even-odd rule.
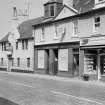
[[[80,46],[104,45],[105,36],[92,36],[80,39]]]

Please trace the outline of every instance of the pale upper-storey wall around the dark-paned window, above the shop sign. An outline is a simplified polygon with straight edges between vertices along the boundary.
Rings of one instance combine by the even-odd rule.
[[[78,35],[80,37],[90,37],[91,35],[96,35],[96,34],[102,34],[105,35],[105,14],[102,13],[98,13],[96,14],[96,16],[100,16],[100,28],[98,30],[98,32],[94,32],[94,16],[95,14],[93,14],[92,16],[84,16],[81,17],[79,20],[79,33]]]

